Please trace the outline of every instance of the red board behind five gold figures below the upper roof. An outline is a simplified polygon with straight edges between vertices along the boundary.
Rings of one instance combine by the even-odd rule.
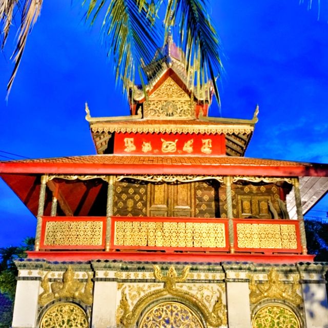
[[[129,150],[126,142],[132,143],[133,150]],[[184,150],[184,146],[188,141],[192,140],[192,152]],[[203,146],[202,140],[211,140],[211,153],[201,151]],[[175,150],[165,152],[162,149],[162,144],[165,141],[175,142]],[[205,141],[204,141],[205,142]],[[146,151],[142,146],[151,145],[151,150]],[[226,138],[224,134],[172,134],[172,133],[121,133],[116,132],[114,138],[114,154],[131,154],[131,155],[206,155],[217,156],[226,154]]]

